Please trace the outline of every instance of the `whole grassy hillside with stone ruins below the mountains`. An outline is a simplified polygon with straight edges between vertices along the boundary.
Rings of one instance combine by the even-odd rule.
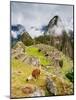
[[[12,49],[11,63],[12,98],[73,94],[73,83],[66,77],[73,62],[54,47],[44,44],[27,47],[18,42]],[[36,68],[40,69],[39,77],[27,81]],[[26,86],[31,92],[26,93]]]

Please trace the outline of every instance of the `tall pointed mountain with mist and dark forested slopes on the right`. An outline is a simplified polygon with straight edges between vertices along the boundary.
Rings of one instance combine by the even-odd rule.
[[[54,16],[46,26],[44,35],[35,38],[36,43],[44,43],[54,46],[59,51],[73,59],[74,33],[66,30],[59,16]]]

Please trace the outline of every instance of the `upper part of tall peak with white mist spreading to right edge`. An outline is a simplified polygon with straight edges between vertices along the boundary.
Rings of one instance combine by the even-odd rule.
[[[73,33],[73,30],[71,28],[67,28],[64,25],[62,18],[58,15],[55,15],[52,19],[50,19],[47,25],[44,25],[41,28],[41,32],[52,36],[60,36],[64,31],[68,36],[70,36],[70,32]]]

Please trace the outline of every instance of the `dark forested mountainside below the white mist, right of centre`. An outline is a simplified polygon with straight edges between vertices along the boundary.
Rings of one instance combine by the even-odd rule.
[[[54,46],[59,51],[62,51],[65,55],[73,59],[73,36],[68,36],[68,34],[65,31],[63,31],[63,35],[61,36],[52,36],[51,34],[46,34],[36,37],[35,44],[38,43],[49,44],[51,46]]]

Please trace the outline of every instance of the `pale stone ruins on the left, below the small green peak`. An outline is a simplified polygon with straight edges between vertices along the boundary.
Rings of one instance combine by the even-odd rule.
[[[21,42],[17,42],[12,49],[12,57],[21,60],[24,63],[39,67],[40,61],[37,57],[28,56],[25,52],[26,46]]]

